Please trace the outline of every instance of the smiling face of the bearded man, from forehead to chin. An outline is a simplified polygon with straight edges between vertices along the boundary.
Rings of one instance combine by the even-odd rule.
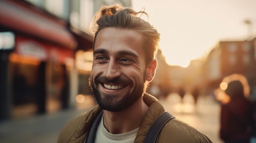
[[[143,95],[148,70],[141,41],[142,36],[133,30],[99,31],[90,85],[104,110],[124,110]]]

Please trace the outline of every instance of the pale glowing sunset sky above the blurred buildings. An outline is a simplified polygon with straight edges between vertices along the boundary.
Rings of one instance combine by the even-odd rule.
[[[255,7],[256,0],[132,0],[132,8],[145,8],[160,33],[166,62],[182,67],[205,57],[220,41],[255,37]]]

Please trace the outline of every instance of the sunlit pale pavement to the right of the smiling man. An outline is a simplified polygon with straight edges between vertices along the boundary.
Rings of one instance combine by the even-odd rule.
[[[181,100],[179,95],[172,94],[160,101],[176,119],[192,125],[207,135],[213,143],[223,143],[219,138],[220,104],[213,97],[200,97],[195,104],[191,95],[187,94]]]

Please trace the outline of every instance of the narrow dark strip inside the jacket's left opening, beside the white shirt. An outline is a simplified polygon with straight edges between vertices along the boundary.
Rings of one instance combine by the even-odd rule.
[[[102,115],[103,115],[103,110],[97,115],[97,117],[93,121],[92,127],[88,133],[85,143],[94,143],[95,142],[96,132],[98,129],[99,122],[101,121]]]

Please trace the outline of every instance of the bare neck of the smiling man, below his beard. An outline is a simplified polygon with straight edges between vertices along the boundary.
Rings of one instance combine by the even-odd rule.
[[[130,107],[120,112],[104,110],[103,123],[111,134],[122,134],[139,128],[148,106],[139,98]]]

